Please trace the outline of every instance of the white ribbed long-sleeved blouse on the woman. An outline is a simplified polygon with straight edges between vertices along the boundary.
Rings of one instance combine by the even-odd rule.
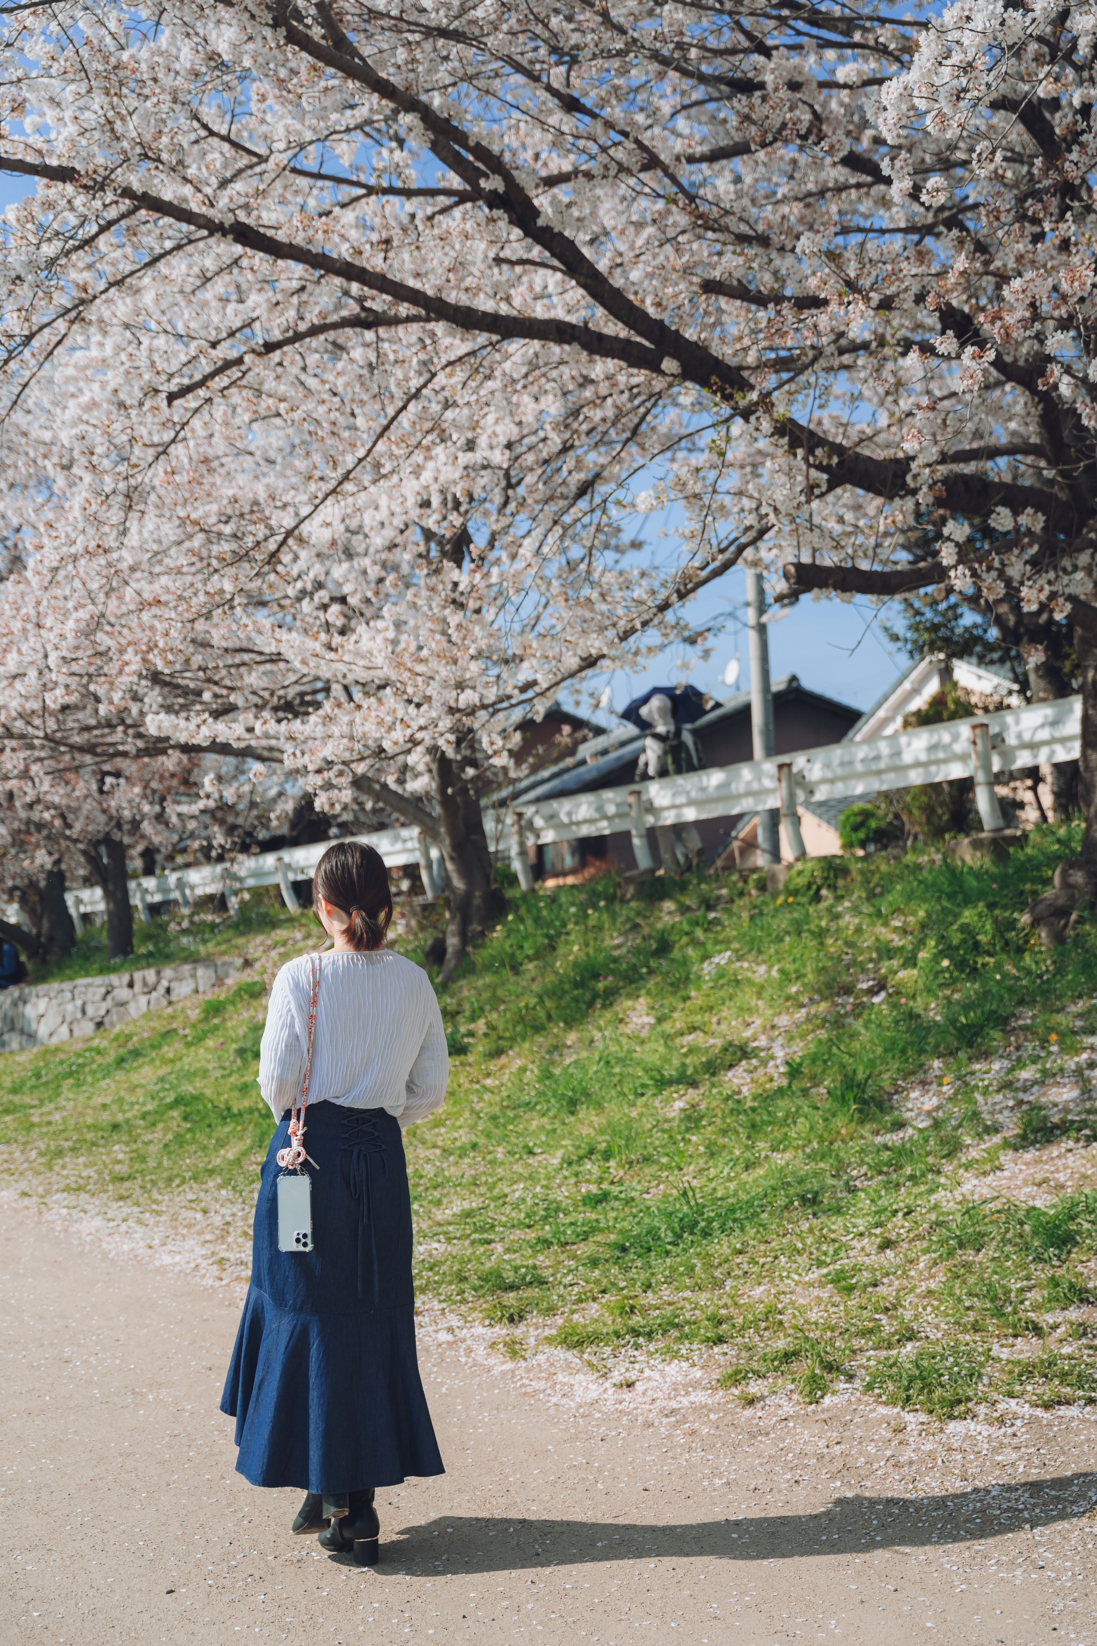
[[[309,1042],[309,956],[288,961],[270,991],[258,1058],[275,1123],[301,1096]],[[403,1128],[439,1108],[449,1080],[442,1014],[431,979],[403,955],[321,955],[309,1103],[386,1109]]]

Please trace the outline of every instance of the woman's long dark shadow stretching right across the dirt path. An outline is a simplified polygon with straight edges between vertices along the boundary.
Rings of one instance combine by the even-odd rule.
[[[513,1572],[584,1560],[788,1560],[984,1542],[1074,1519],[1097,1501],[1097,1473],[1056,1475],[931,1498],[839,1498],[814,1514],[758,1514],[681,1526],[446,1514],[395,1536],[382,1562],[413,1575]],[[350,1555],[339,1555],[349,1562]]]

